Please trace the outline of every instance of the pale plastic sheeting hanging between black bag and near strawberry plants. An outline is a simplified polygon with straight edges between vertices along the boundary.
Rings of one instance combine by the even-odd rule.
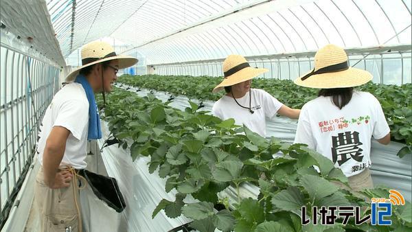
[[[103,139],[107,139],[109,133],[106,123],[102,121]],[[100,146],[103,139],[99,141]],[[150,157],[139,156],[133,162],[129,150],[112,145],[103,149],[102,159],[108,176],[116,178],[126,202],[120,218],[113,220],[113,223],[119,223],[117,231],[169,231],[192,221],[184,216],[168,218],[163,210],[152,218],[161,199],[175,200],[176,190],[166,193],[166,179],[160,178],[157,170],[149,173],[147,163]],[[184,201],[194,202],[194,199],[187,196]]]

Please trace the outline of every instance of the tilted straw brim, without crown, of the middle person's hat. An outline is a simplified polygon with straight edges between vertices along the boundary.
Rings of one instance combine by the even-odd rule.
[[[237,71],[236,73],[233,73],[231,76],[228,76],[220,82],[214,89],[213,93],[216,93],[218,91],[221,91],[224,89],[225,86],[232,86],[233,84],[239,84],[241,82],[245,82],[247,80],[251,80],[255,78],[256,76],[259,76],[262,73],[266,73],[266,71],[269,71],[268,69],[259,69],[259,68],[252,68],[252,67],[247,67],[244,68],[240,71]]]

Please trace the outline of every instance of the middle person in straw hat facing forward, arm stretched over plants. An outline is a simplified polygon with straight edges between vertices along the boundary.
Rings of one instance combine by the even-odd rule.
[[[266,71],[268,69],[250,67],[243,56],[228,56],[223,62],[225,80],[213,90],[225,89],[226,95],[215,102],[212,113],[222,120],[233,118],[237,125],[244,124],[262,137],[266,137],[266,117],[279,113],[297,119],[299,109],[285,106],[262,89],[251,89],[252,78]]]

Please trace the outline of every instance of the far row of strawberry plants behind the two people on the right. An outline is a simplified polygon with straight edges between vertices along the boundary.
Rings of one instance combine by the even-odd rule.
[[[199,100],[218,100],[224,91],[211,93],[211,90],[220,83],[222,78],[192,77],[192,76],[128,76],[119,78],[119,82],[138,86],[144,89],[166,91],[174,95],[186,95]],[[253,88],[264,89],[271,93],[280,102],[292,107],[301,108],[306,102],[317,97],[317,89],[297,86],[290,80],[272,78],[253,79]],[[406,146],[398,152],[401,158],[405,154],[412,154],[412,84],[402,86],[373,84],[371,82],[356,87],[361,91],[374,94],[387,117],[391,128],[391,139]]]

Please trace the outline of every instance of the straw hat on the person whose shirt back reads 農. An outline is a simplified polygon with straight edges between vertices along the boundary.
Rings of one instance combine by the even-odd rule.
[[[326,45],[314,55],[314,69],[295,80],[295,84],[317,89],[348,88],[372,80],[368,71],[349,67],[347,54],[336,45]]]

